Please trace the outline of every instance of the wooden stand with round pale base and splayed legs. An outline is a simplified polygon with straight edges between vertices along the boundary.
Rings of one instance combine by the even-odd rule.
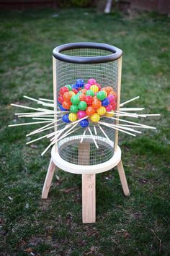
[[[89,163],[89,153],[84,154],[84,152],[89,152],[90,150],[84,150],[85,148],[89,147],[88,142],[84,142],[79,145],[79,168],[82,170],[79,170],[79,174],[82,175],[82,221],[83,223],[94,223],[96,221],[96,173],[102,172],[97,169],[97,171],[93,171],[93,173],[90,173],[90,171],[86,172],[85,169],[88,169],[89,166],[85,166],[84,164]],[[120,150],[118,147],[117,150]],[[119,176],[120,176],[120,182],[122,184],[122,190],[125,196],[129,196],[130,192],[128,189],[128,183],[125,176],[125,171],[122,166],[121,161],[121,151],[120,151],[120,158],[117,158],[117,155],[115,153],[116,159],[114,162],[114,157],[112,161],[112,168],[114,166],[117,166]],[[117,161],[118,159],[118,161]],[[50,165],[48,167],[48,172],[45,178],[44,186],[42,189],[42,199],[46,199],[48,197],[48,192],[50,189],[50,184],[53,179],[53,174],[55,171],[55,166],[58,166],[59,168],[62,168],[64,170],[64,165],[61,166],[62,159],[60,159],[60,156],[58,153],[55,153],[55,149],[52,150],[52,158],[50,159]],[[68,164],[68,163],[67,163]],[[69,164],[71,166],[71,173],[77,173],[77,170],[73,171],[73,164]],[[77,168],[77,166],[75,166]],[[65,171],[68,171],[66,168]],[[106,170],[105,170],[106,171]]]

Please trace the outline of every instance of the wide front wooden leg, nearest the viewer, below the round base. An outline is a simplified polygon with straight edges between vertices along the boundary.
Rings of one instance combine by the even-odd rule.
[[[96,174],[82,174],[83,223],[96,221]]]

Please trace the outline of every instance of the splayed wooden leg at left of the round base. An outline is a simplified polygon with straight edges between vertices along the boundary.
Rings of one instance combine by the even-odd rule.
[[[44,186],[42,189],[42,199],[46,199],[48,197],[48,192],[50,189],[50,185],[53,179],[53,174],[55,171],[55,164],[53,163],[52,159],[50,159],[50,164],[48,166],[48,172],[45,178]]]

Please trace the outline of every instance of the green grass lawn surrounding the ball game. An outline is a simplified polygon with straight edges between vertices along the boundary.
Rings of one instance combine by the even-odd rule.
[[[48,9],[0,19],[0,255],[169,255],[169,18]],[[122,101],[140,95],[133,106],[161,113],[148,120],[156,131],[120,135],[131,195],[122,195],[116,169],[98,174],[94,224],[81,223],[79,175],[59,171],[48,200],[40,199],[46,142],[26,146],[31,128],[7,127],[15,119],[9,103],[26,104],[24,94],[52,98],[52,50],[76,41],[122,48]]]

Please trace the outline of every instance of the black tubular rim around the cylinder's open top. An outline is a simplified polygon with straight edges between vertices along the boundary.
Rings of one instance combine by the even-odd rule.
[[[76,48],[97,48],[106,51],[110,51],[111,54],[106,56],[96,57],[80,57],[80,56],[68,56],[63,54],[63,51],[76,49]],[[110,46],[106,43],[66,43],[53,49],[53,56],[55,59],[76,64],[97,64],[109,61],[115,61],[122,56],[122,50],[115,46]]]

